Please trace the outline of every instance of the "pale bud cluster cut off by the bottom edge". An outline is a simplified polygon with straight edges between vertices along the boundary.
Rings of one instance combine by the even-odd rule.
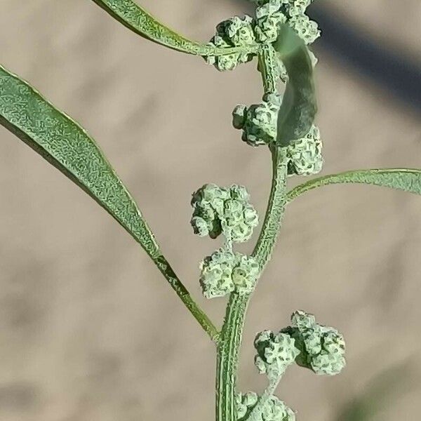
[[[248,415],[258,403],[258,395],[255,392],[236,394],[237,420],[246,420]],[[295,413],[278,397],[271,395],[262,407],[259,415],[260,421],[295,421]]]

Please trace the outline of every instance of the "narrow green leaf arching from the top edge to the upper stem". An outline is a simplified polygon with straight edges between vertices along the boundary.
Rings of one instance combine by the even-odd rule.
[[[112,15],[113,18],[136,34],[139,34],[150,41],[154,41],[157,44],[173,48],[177,51],[182,51],[183,53],[196,55],[227,55],[245,51],[244,47],[215,48],[206,44],[200,44],[196,41],[191,41],[185,38],[185,36],[169,29],[166,25],[163,25],[159,20],[156,20],[156,18],[147,13],[144,8],[140,7],[132,0],[93,1],[109,13],[109,15]],[[255,50],[257,50],[257,48],[256,45]],[[251,49],[253,50],[253,48]]]

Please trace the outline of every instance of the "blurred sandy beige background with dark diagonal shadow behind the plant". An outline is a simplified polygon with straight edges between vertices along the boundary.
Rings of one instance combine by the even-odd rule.
[[[207,41],[241,0],[139,0]],[[323,0],[309,13],[323,173],[421,168],[419,0]],[[246,185],[263,215],[271,164],[230,123],[260,100],[255,62],[218,73],[160,48],[89,0],[0,0],[0,57],[98,140],[164,253],[215,321],[199,261],[218,247],[189,226],[205,182]],[[0,419],[214,420],[214,348],[145,253],[55,168],[0,128]],[[293,180],[296,183],[301,180]],[[248,251],[253,243],[243,247]],[[298,420],[417,420],[421,410],[421,199],[334,186],[288,206],[255,293],[239,384],[265,385],[253,338],[295,309],[342,330],[348,365],[291,368],[279,396]]]

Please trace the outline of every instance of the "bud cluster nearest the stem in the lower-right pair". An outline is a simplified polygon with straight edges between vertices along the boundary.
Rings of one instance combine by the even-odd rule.
[[[254,343],[258,354],[255,366],[260,373],[266,373],[269,380],[276,380],[295,361],[300,350],[295,347],[295,339],[287,333],[264,330],[258,333]]]

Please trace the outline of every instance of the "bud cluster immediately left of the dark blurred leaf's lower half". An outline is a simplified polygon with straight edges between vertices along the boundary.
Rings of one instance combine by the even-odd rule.
[[[281,97],[277,94],[266,95],[260,104],[251,105],[248,109],[237,105],[233,113],[236,118],[233,125],[243,129],[243,141],[251,146],[268,145],[273,142],[276,138],[276,123],[280,106]],[[242,110],[244,110],[242,124],[236,124],[241,119],[239,112]]]

